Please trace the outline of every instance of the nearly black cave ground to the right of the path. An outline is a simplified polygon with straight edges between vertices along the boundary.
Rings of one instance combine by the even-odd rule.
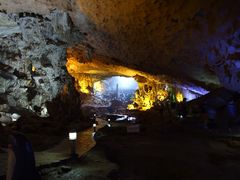
[[[97,144],[120,167],[113,179],[239,179],[237,136],[214,136],[180,122],[159,120],[140,122],[141,131],[135,134],[126,132],[128,123],[113,123],[101,130],[105,136]]]

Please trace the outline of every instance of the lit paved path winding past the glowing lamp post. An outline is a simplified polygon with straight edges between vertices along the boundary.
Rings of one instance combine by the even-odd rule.
[[[97,129],[104,127],[106,121],[97,118]],[[78,133],[78,139],[76,142],[76,152],[79,156],[82,156],[95,146],[95,141],[92,139],[93,128],[86,129],[83,132]],[[45,151],[35,152],[36,165],[45,165],[58,162],[70,157],[71,144],[68,138],[65,138],[58,145],[52,149]],[[0,153],[0,175],[5,174],[7,163],[7,153]]]

